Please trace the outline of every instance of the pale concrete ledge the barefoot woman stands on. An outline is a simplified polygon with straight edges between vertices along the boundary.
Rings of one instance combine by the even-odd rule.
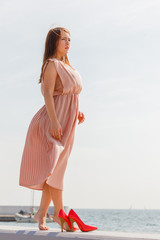
[[[160,234],[91,231],[61,232],[61,229],[38,230],[37,227],[0,225],[0,240],[160,240]]]

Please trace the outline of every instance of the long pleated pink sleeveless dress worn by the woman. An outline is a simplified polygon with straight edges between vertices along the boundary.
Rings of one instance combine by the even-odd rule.
[[[50,119],[46,106],[33,116],[21,159],[19,185],[31,189],[43,190],[46,182],[49,186],[63,190],[64,173],[71,153],[75,128],[79,112],[79,93],[82,90],[82,78],[78,71],[56,58],[53,61],[63,90],[54,90],[53,100],[57,118],[62,126],[61,140],[50,134]],[[43,68],[43,72],[47,63]],[[43,78],[41,92],[44,95]],[[60,88],[59,88],[60,89]]]

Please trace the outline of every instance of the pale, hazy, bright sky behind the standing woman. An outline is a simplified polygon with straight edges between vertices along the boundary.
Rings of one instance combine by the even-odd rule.
[[[50,28],[71,33],[82,77],[75,141],[64,177],[70,208],[160,209],[160,1],[0,1],[0,205],[30,205],[19,186]],[[39,205],[41,191],[34,191]],[[53,203],[51,203],[51,206]]]

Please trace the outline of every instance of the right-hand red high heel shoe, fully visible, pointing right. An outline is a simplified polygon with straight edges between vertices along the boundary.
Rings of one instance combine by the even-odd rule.
[[[68,218],[70,219],[72,228],[73,222],[76,222],[82,232],[89,232],[98,229],[97,227],[84,224],[73,209],[69,211]]]

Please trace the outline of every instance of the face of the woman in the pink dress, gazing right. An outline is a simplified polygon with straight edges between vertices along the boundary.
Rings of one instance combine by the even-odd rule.
[[[66,33],[65,31],[61,31],[61,37],[58,41],[57,46],[57,52],[60,55],[65,55],[68,53],[68,50],[70,48],[70,36],[69,33]]]

